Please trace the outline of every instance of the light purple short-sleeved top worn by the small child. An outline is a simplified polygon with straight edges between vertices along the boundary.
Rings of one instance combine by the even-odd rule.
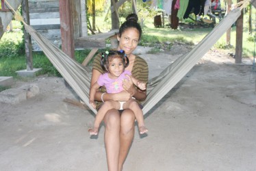
[[[123,89],[123,80],[128,79],[125,75],[131,75],[129,70],[125,70],[117,79],[110,79],[107,73],[104,73],[99,76],[98,83],[99,86],[105,86],[107,93],[118,93],[122,92]]]

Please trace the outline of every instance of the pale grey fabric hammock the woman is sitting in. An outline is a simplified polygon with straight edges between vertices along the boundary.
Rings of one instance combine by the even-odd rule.
[[[222,34],[231,27],[231,25],[240,16],[241,8],[232,10],[214,29],[201,40],[199,44],[187,53],[179,57],[178,60],[170,64],[158,77],[149,80],[147,86],[147,98],[144,101],[143,113],[146,114],[156,103],[158,103],[188,72],[189,70],[209,51],[217,42]],[[21,17],[21,16],[20,16]],[[91,70],[81,66],[78,62],[68,57],[61,49],[36,32],[31,26],[27,25],[23,19],[25,29],[38,43],[44,54],[49,58],[53,66],[64,77],[68,84],[73,88],[77,95],[97,114],[97,111],[89,103]]]

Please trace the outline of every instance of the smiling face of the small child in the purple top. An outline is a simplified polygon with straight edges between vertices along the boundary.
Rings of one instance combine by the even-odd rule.
[[[125,70],[123,61],[119,57],[114,57],[110,60],[110,66],[108,67],[110,79],[117,79]]]

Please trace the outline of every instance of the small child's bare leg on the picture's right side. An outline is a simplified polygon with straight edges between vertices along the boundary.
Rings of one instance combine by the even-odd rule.
[[[144,124],[144,116],[142,109],[140,109],[140,106],[137,101],[134,99],[130,99],[123,105],[124,109],[131,109],[133,113],[135,114],[136,120],[138,122],[138,127],[140,134],[146,133],[148,129],[146,129]]]

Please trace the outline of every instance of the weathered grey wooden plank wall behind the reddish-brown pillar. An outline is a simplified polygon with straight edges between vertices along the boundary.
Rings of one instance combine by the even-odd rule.
[[[81,10],[84,10],[85,0],[72,0],[73,18],[74,18],[74,36],[75,39],[87,34],[83,31],[87,28],[86,20],[81,15]],[[40,34],[51,40],[57,47],[61,46],[62,40],[60,37],[60,12],[59,0],[29,0],[29,17],[30,25],[34,27]],[[33,50],[40,51],[40,47],[32,40]]]

